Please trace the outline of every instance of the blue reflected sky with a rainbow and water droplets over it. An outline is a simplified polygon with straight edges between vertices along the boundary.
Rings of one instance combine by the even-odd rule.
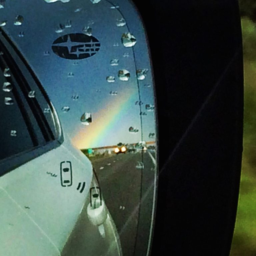
[[[35,20],[33,10],[43,5],[42,11],[36,13],[40,24],[33,24],[30,22]],[[65,4],[35,1],[30,8],[21,8],[19,4],[12,6],[8,1],[1,10],[3,19],[15,19],[18,12],[24,18],[22,25],[8,22],[4,30],[14,42],[18,42],[20,51],[42,82],[59,115],[64,134],[80,149],[154,140],[149,134],[155,133],[155,113],[146,109],[146,104],[154,105],[154,93],[144,31],[140,21],[135,19],[131,28],[129,22],[118,26],[118,21],[127,19],[111,6],[104,0],[97,4],[72,0]],[[60,15],[56,15],[58,13]],[[72,26],[56,33],[56,26],[67,21]],[[92,35],[101,43],[96,55],[70,60],[53,53],[51,46],[58,37],[83,33],[84,27],[89,25]],[[23,37],[18,36],[21,32]],[[136,37],[133,47],[122,44],[122,35],[128,32]],[[118,59],[118,65],[111,65],[113,59]],[[122,69],[130,72],[128,81],[119,79],[118,73]],[[137,79],[138,69],[149,69],[144,80]],[[109,83],[108,76],[114,76],[115,82]],[[111,91],[116,93],[111,94]],[[78,97],[74,99],[74,95]],[[136,104],[140,100],[141,105]],[[69,110],[63,111],[63,107],[69,107]],[[140,112],[145,113],[140,115]],[[92,115],[89,126],[80,121],[83,113]],[[139,131],[129,132],[131,126]]]

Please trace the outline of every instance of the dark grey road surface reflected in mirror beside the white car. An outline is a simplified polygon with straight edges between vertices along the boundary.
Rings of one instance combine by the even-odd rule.
[[[153,204],[154,159],[154,152],[90,159],[98,176],[104,200],[117,227],[123,256],[146,255]],[[144,169],[136,168],[138,162],[142,161]],[[144,199],[141,201],[141,198]]]

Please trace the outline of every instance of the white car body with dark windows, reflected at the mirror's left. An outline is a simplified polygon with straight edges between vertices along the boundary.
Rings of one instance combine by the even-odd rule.
[[[122,256],[90,160],[63,133],[21,41],[0,32],[0,255]]]

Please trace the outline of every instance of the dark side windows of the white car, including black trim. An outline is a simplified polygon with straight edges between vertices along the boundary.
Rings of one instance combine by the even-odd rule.
[[[0,35],[1,175],[28,158],[22,154],[55,140],[62,142],[60,122],[47,94],[36,76],[26,67],[19,52],[2,31]],[[48,147],[49,148],[49,147]],[[44,149],[44,151],[46,148]],[[42,154],[42,152],[40,153]],[[11,162],[11,158],[15,159]],[[8,160],[8,164],[7,161]]]

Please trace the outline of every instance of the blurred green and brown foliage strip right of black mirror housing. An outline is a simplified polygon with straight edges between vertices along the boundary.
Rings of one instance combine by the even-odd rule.
[[[256,1],[239,0],[244,52],[244,149],[237,219],[230,256],[256,255],[253,237],[256,208]]]

